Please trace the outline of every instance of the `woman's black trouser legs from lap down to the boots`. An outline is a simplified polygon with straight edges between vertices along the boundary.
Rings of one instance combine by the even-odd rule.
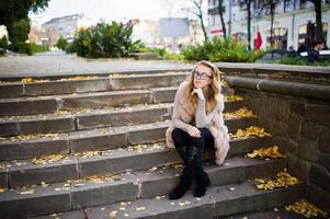
[[[198,128],[201,137],[191,137],[180,128],[172,131],[172,139],[185,165],[202,168],[204,148],[214,148],[214,138],[207,128]]]

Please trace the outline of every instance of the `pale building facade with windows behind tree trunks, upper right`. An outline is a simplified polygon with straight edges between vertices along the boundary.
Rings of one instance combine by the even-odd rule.
[[[293,46],[310,47],[315,38],[314,3],[307,0],[275,0],[275,15],[273,23],[274,46],[287,49]],[[263,0],[252,0],[251,3],[251,47],[254,47],[258,32],[262,38],[262,49],[271,45],[271,10]],[[224,0],[223,14],[227,35],[247,42],[248,22],[247,4],[244,0]],[[326,44],[330,45],[330,3],[322,0],[322,30]],[[208,33],[210,36],[223,35],[223,26],[218,13],[218,0],[208,0]]]

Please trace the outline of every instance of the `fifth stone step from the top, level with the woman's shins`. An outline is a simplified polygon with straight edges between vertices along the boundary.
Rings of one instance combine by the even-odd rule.
[[[270,142],[270,138],[231,139],[228,158],[269,146]],[[206,159],[214,160],[213,150],[207,151]],[[125,170],[143,170],[180,161],[177,151],[166,148],[163,142],[146,145],[135,150],[132,148],[107,150],[100,155],[71,154],[53,163],[35,164],[32,160],[14,160],[0,163],[2,166],[0,187],[21,187],[43,181],[56,183],[90,175],[120,173]]]

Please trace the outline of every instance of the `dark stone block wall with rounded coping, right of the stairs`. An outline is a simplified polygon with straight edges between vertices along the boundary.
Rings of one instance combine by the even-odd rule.
[[[330,211],[330,73],[322,82],[252,74],[225,78],[286,153],[288,171],[307,182],[308,198]]]

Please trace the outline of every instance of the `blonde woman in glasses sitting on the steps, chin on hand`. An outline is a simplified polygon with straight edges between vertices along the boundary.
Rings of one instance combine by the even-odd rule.
[[[215,148],[215,162],[221,165],[228,149],[228,129],[224,125],[224,96],[219,70],[201,61],[177,91],[172,124],[167,130],[167,146],[174,148],[184,162],[180,183],[170,199],[181,198],[196,180],[195,197],[202,197],[210,185],[203,169],[204,148]]]

